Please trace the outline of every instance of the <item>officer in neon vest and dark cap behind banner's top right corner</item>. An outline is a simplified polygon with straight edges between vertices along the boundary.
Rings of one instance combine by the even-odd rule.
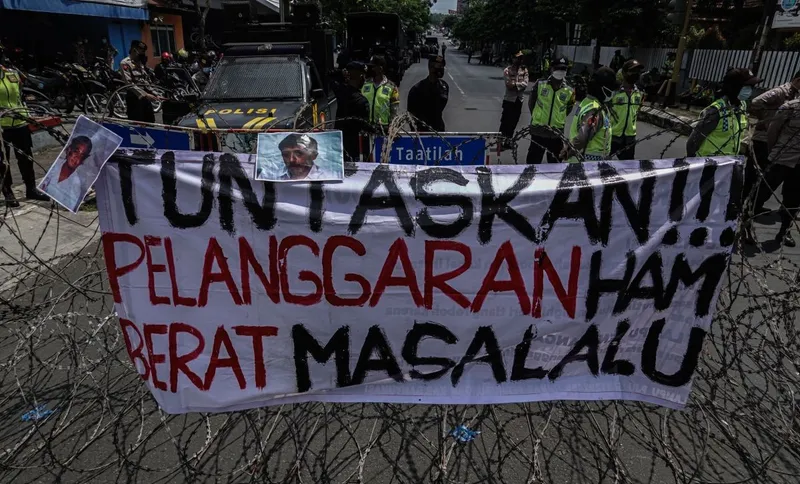
[[[745,68],[729,69],[722,79],[722,97],[700,113],[686,140],[686,156],[738,155],[747,135],[747,105],[753,86],[761,82]]]

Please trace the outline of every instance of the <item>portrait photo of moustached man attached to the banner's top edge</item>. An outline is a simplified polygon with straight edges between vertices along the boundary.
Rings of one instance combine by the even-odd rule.
[[[341,131],[259,133],[256,179],[276,182],[344,178]]]

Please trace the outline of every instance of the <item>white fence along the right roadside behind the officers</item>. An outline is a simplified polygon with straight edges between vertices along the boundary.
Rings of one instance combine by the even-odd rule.
[[[576,64],[592,64],[593,47],[590,45],[559,45],[556,54],[566,56]],[[620,50],[625,57],[635,57],[646,69],[660,68],[667,58],[667,53],[675,49],[663,48],[628,48],[601,47],[600,64],[609,65],[614,51]],[[729,67],[749,67],[752,51],[694,49],[683,56],[681,69],[688,71],[686,78],[705,82],[719,82]],[[758,85],[762,89],[771,89],[788,82],[800,71],[800,52],[766,51],[761,58],[757,75],[764,79]]]

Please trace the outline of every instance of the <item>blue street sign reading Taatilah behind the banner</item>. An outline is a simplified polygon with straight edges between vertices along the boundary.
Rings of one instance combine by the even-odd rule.
[[[375,138],[375,161],[381,162],[386,138]],[[393,165],[485,165],[486,140],[470,136],[398,136],[392,142]]]

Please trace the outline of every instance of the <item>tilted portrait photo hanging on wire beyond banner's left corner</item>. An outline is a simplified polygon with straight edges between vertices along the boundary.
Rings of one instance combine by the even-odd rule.
[[[120,142],[119,136],[81,116],[39,189],[70,212],[77,212]]]

